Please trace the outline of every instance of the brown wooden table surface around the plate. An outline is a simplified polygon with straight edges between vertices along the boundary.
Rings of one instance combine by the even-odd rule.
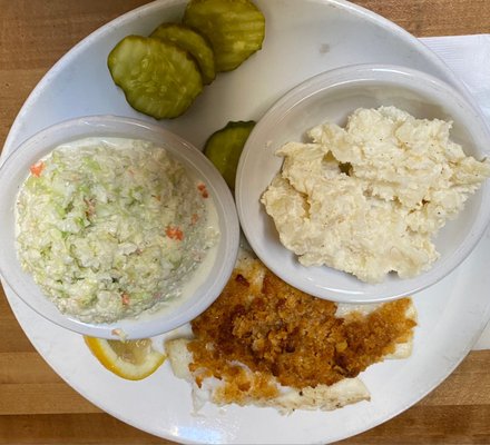
[[[146,2],[0,0],[0,147],[29,92],[66,51],[109,20]],[[355,3],[418,37],[490,32],[490,0]],[[419,404],[342,443],[490,444],[489,367],[490,350],[470,353]],[[36,353],[0,288],[0,444],[170,442],[115,419],[65,384]]]

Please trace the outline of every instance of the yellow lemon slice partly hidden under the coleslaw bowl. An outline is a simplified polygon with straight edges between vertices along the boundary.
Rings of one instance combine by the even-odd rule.
[[[153,348],[149,338],[138,340],[106,340],[84,336],[97,359],[110,372],[129,380],[140,380],[155,373],[166,356]]]

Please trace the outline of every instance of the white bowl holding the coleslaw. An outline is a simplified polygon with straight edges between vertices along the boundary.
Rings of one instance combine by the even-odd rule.
[[[190,175],[202,179],[214,200],[220,231],[215,255],[209,257],[206,274],[199,274],[189,295],[171,309],[147,312],[136,318],[111,324],[89,324],[62,315],[41,293],[31,276],[20,266],[16,253],[14,206],[16,198],[29,167],[48,155],[55,147],[87,137],[118,137],[140,139],[163,146],[171,157],[180,161]],[[226,182],[195,147],[180,137],[157,126],[136,119],[94,116],[65,121],[49,127],[18,147],[0,167],[0,273],[11,289],[31,308],[49,320],[80,334],[101,338],[117,338],[118,328],[127,338],[151,337],[174,329],[204,312],[219,295],[235,264],[239,243],[239,225],[233,196]],[[206,263],[206,261],[204,261]],[[205,267],[205,266],[199,266]]]

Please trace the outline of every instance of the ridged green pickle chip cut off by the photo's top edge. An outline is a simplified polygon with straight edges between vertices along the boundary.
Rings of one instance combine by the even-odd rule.
[[[262,48],[265,18],[249,0],[190,0],[183,22],[206,36],[216,71],[231,71]]]

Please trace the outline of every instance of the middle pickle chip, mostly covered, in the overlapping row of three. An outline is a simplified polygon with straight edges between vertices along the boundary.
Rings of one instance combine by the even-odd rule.
[[[203,75],[204,85],[209,85],[215,79],[213,48],[198,32],[183,23],[161,23],[149,37],[168,40],[194,56]]]

